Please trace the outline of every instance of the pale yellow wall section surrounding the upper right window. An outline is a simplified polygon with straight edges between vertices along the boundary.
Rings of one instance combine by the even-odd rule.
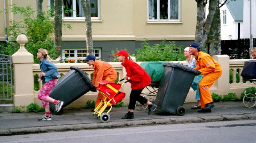
[[[196,2],[192,0],[180,0],[181,22],[148,22],[147,0],[133,0],[134,8],[134,35],[137,36],[170,36],[195,37]],[[163,22],[162,22],[163,23]],[[176,39],[177,40],[177,39]],[[194,40],[194,39],[192,39]]]

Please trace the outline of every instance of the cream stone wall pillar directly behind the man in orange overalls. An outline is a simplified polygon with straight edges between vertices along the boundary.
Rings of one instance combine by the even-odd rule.
[[[227,95],[230,89],[229,83],[229,69],[230,69],[230,59],[228,55],[214,55],[212,56],[219,64],[221,64],[222,75],[215,81],[217,85],[217,92],[219,95]]]

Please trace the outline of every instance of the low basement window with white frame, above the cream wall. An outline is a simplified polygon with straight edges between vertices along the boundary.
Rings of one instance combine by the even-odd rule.
[[[93,48],[94,56],[96,59],[101,60],[101,48]],[[62,49],[62,59],[72,60],[73,62],[81,62],[87,56],[86,49]]]

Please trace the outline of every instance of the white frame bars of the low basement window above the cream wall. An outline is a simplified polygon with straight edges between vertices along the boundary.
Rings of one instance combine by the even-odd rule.
[[[65,50],[74,50],[74,57],[70,57],[70,58],[65,58]],[[62,55],[61,55],[61,59],[74,59],[75,62],[77,62],[78,58],[79,59],[85,59],[86,57],[77,57],[77,50],[86,50],[84,48],[64,48],[62,49]],[[93,48],[93,53],[95,53],[95,50],[99,50],[99,56],[96,56],[96,59],[98,60],[102,60],[102,50],[101,48]]]

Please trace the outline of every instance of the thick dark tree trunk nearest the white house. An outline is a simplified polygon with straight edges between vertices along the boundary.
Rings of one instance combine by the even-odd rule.
[[[219,1],[219,0],[218,0]],[[209,54],[220,55],[221,54],[221,18],[220,18],[220,9],[217,6],[211,29],[208,35],[208,41],[210,44]]]

